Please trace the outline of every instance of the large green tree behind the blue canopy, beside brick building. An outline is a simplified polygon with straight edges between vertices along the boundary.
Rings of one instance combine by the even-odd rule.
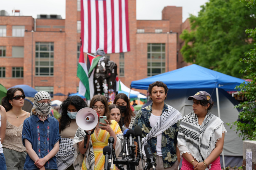
[[[248,9],[239,0],[210,0],[201,7],[198,17],[189,17],[191,31],[180,36],[184,60],[241,78],[246,63],[239,58],[253,48],[244,30],[255,28],[256,8]]]

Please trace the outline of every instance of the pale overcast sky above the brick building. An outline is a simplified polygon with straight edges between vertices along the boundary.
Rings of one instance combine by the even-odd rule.
[[[137,0],[137,19],[160,20],[161,12],[165,6],[182,6],[183,21],[189,14],[197,15],[200,6],[208,0]],[[12,10],[20,10],[24,16],[37,18],[38,14],[57,14],[62,19],[65,14],[66,0],[0,0],[0,10],[5,10],[12,14]]]

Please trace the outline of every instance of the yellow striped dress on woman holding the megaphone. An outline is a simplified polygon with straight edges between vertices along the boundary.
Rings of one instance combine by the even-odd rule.
[[[115,134],[122,133],[118,123],[115,120],[111,120],[110,127],[113,129]],[[98,133],[93,133],[91,135],[91,141],[93,143],[93,152],[95,156],[95,164],[94,169],[95,170],[104,170],[104,163],[105,163],[105,155],[103,155],[103,148],[108,145],[108,139],[110,135],[109,132],[105,130],[99,129]],[[87,170],[86,168],[86,160],[84,157],[83,164],[81,170]],[[115,166],[113,168],[115,170]]]

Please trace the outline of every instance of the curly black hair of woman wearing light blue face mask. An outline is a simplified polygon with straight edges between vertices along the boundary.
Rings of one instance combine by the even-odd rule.
[[[60,105],[61,108],[61,117],[59,118],[60,122],[60,131],[70,126],[71,119],[68,116],[68,106],[73,105],[77,111],[81,108],[88,107],[86,102],[79,96],[69,96],[66,100]]]

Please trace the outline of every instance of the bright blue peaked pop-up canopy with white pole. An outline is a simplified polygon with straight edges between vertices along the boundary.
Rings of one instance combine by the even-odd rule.
[[[222,91],[224,90],[236,91],[235,87],[245,82],[242,79],[235,78],[230,75],[226,75],[226,74],[193,64],[180,69],[176,69],[173,71],[148,77],[142,80],[132,81],[131,87],[137,88],[137,89],[148,89],[148,85],[155,81],[162,81],[163,83],[165,83],[169,91],[172,93],[171,94],[172,96],[173,94],[176,94],[177,91],[181,92],[187,89],[194,89],[194,91],[195,89],[197,89],[196,91],[199,91],[202,89],[208,89],[209,92],[216,91],[215,99],[217,101],[217,113],[219,118],[221,118],[221,113],[220,113],[218,89],[223,89]],[[175,90],[172,90],[172,89],[175,89]],[[195,93],[189,94],[189,95],[194,95],[194,94]],[[171,95],[168,95],[168,96],[171,96]],[[179,93],[176,95],[181,96],[182,94]],[[211,94],[211,95],[212,97],[215,96],[214,94]],[[186,96],[186,98],[187,97],[188,96]],[[239,146],[239,147],[242,147],[242,146]],[[222,155],[223,155],[223,167],[225,167],[224,151]]]

